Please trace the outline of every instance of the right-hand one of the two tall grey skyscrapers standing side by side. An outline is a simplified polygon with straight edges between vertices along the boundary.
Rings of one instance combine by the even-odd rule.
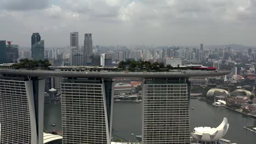
[[[87,64],[89,61],[91,61],[90,57],[92,55],[92,34],[91,33],[84,34],[84,55],[86,56],[85,63]]]

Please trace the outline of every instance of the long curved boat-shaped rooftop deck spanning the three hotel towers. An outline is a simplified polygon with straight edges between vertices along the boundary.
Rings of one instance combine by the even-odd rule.
[[[175,70],[164,72],[130,71],[61,71],[61,70],[16,70],[0,69],[2,75],[20,75],[33,77],[84,77],[84,78],[145,78],[166,79],[178,77],[211,77],[229,74],[228,70]]]

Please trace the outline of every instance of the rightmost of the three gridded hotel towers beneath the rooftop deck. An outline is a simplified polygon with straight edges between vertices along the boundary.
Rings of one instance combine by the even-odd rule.
[[[188,79],[145,79],[142,143],[190,144]]]

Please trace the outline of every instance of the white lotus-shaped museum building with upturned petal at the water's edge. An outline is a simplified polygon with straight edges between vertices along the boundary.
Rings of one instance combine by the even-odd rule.
[[[217,128],[198,127],[194,128],[191,136],[198,141],[213,142],[221,139],[229,129],[228,119],[224,117],[222,123]]]

